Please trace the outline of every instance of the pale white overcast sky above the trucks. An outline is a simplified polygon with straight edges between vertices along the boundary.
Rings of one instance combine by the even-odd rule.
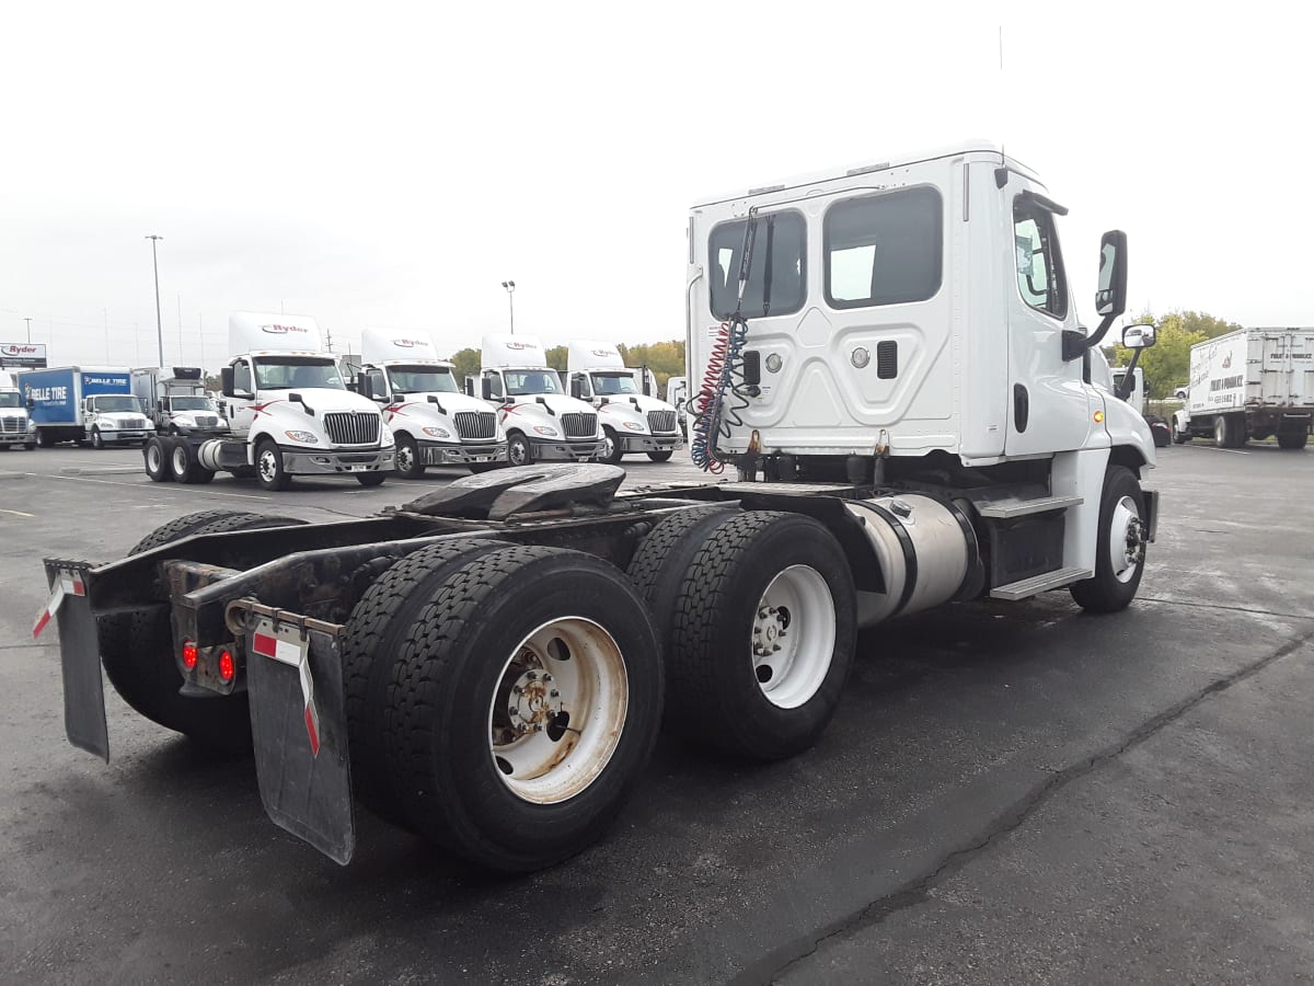
[[[478,346],[506,279],[548,344],[670,339],[699,196],[976,135],[1071,208],[1088,322],[1121,227],[1137,309],[1314,323],[1303,17],[886,7],[5,4],[0,342],[154,364],[148,233],[168,364],[239,309]]]

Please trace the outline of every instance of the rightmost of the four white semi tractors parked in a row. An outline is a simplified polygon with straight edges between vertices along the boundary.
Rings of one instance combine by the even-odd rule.
[[[675,409],[646,396],[643,368],[631,369],[610,342],[572,342],[566,350],[570,396],[598,409],[603,463],[619,463],[625,452],[646,452],[664,463],[681,447]]]

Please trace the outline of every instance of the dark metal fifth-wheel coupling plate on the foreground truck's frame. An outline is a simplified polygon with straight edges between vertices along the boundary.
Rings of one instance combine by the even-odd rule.
[[[607,506],[625,481],[625,471],[598,463],[520,465],[465,476],[399,509],[417,514],[480,517],[501,521],[531,510],[572,504]]]

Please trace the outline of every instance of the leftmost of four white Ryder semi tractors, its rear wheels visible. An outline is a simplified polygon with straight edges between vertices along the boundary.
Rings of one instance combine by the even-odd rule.
[[[229,347],[234,356],[221,377],[231,435],[148,442],[152,480],[209,482],[222,469],[280,490],[294,476],[353,476],[377,486],[393,471],[393,434],[378,405],[347,389],[313,318],[238,312]]]

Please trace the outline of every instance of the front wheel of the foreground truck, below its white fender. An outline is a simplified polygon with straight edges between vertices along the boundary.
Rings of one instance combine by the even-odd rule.
[[[1144,494],[1137,477],[1123,465],[1110,465],[1100,496],[1095,577],[1070,589],[1077,606],[1089,613],[1117,613],[1135,598],[1150,535],[1144,517]]]

